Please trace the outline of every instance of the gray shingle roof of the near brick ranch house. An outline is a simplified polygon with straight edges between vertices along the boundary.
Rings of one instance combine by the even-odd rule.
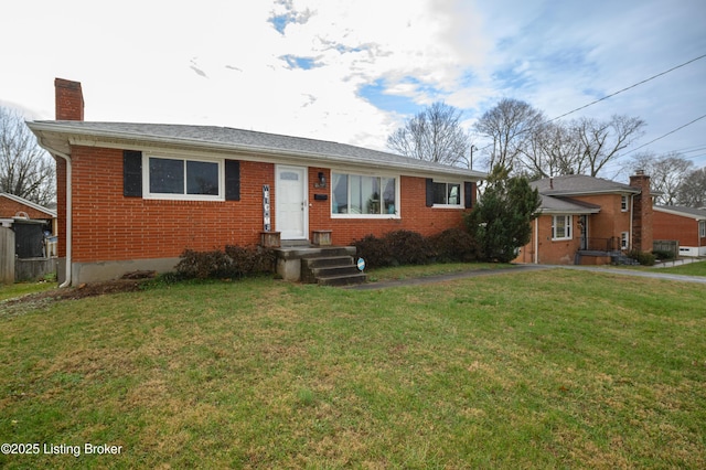
[[[64,132],[83,137],[127,139],[162,143],[180,143],[202,148],[277,153],[322,162],[347,162],[448,173],[472,179],[485,178],[485,173],[462,168],[421,161],[394,153],[365,149],[346,143],[301,137],[257,132],[215,126],[186,126],[169,124],[94,122],[94,121],[34,121],[28,126],[35,132]]]

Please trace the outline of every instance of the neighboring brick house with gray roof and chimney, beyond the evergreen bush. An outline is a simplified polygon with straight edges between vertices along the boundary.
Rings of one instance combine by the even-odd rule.
[[[542,205],[516,263],[609,264],[624,250],[652,250],[650,177],[642,172],[630,184],[575,174],[531,185]]]

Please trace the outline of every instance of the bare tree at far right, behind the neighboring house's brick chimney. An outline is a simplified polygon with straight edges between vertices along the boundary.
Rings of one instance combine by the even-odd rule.
[[[657,204],[674,205],[680,186],[693,170],[694,163],[676,152],[662,157],[645,152],[633,157],[630,167],[633,171],[644,170],[650,175]]]

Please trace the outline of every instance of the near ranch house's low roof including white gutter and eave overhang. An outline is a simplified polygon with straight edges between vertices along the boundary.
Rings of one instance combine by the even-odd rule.
[[[201,151],[247,152],[255,158],[257,156],[276,157],[282,162],[291,163],[347,164],[368,169],[404,170],[413,174],[463,177],[472,180],[486,177],[479,171],[345,143],[228,127],[73,120],[30,121],[28,126],[38,136],[40,143],[63,153],[71,151],[69,143],[136,150],[140,150],[140,145],[178,146]]]

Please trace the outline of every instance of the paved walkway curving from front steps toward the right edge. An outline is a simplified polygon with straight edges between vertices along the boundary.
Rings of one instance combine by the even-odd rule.
[[[528,271],[536,271],[536,270],[543,270],[543,269],[585,270],[585,271],[592,271],[592,273],[606,273],[614,276],[634,276],[634,277],[644,277],[650,279],[664,279],[664,280],[673,280],[673,281],[681,281],[681,282],[695,282],[695,284],[706,285],[706,277],[703,277],[703,276],[683,276],[683,275],[673,275],[673,274],[664,274],[664,273],[655,273],[655,271],[640,271],[635,269],[601,268],[601,267],[595,267],[595,266],[513,265],[510,268],[479,269],[479,270],[450,273],[450,274],[443,274],[443,275],[437,275],[437,276],[426,276],[426,277],[417,277],[417,278],[409,278],[409,279],[359,284],[354,286],[349,286],[346,287],[346,289],[376,290],[376,289],[386,289],[389,287],[420,286],[426,284],[445,282],[449,280],[466,279],[471,277],[528,273]]]

